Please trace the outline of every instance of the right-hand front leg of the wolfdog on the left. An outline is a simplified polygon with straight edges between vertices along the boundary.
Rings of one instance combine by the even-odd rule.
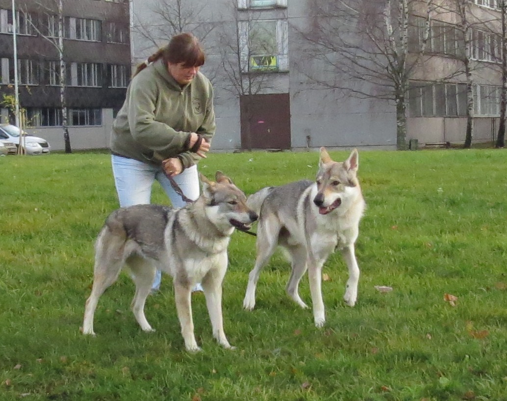
[[[222,317],[222,282],[227,269],[227,255],[225,258],[225,268],[210,270],[206,276],[204,276],[201,284],[204,290],[204,296],[206,297],[206,306],[208,307],[213,337],[221,346],[225,348],[234,348],[231,347],[225,336]]]

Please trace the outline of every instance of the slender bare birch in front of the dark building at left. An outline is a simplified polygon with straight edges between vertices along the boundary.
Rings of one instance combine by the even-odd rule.
[[[67,85],[63,41],[63,0],[51,0],[50,2],[37,1],[35,4],[43,10],[42,17],[45,18],[47,30],[43,31],[39,29],[39,26],[34,24],[31,20],[29,20],[29,23],[33,29],[56,50],[58,57],[58,86],[62,113],[63,140],[65,142],[65,153],[71,153],[72,148],[70,146],[70,137],[68,134],[68,113],[65,93]]]

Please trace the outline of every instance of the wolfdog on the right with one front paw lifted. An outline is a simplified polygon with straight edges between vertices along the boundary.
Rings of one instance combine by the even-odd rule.
[[[325,323],[321,293],[322,265],[338,247],[347,263],[349,279],[345,302],[354,306],[357,299],[359,267],[354,243],[359,233],[365,201],[357,180],[358,154],[354,149],[344,162],[333,161],[320,148],[319,170],[315,182],[302,180],[279,187],[267,187],[252,194],[247,205],[259,213],[257,259],[249,274],[243,307],[255,307],[255,291],[261,269],[277,245],[288,251],[292,261],[286,290],[301,307],[298,286],[308,269],[315,325]]]

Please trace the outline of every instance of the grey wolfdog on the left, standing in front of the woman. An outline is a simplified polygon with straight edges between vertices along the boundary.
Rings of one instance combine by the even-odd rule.
[[[135,283],[134,316],[142,330],[154,331],[144,316],[144,303],[155,270],[159,269],[173,278],[176,311],[187,350],[199,350],[191,308],[191,289],[198,282],[206,297],[213,336],[223,347],[232,348],[222,319],[227,247],[234,228],[247,230],[258,216],[246,206],[243,192],[221,172],[216,173],[216,182],[203,175],[200,178],[201,196],[184,208],[137,205],[120,208],[107,217],[95,243],[93,286],[83,322],[85,334],[94,335],[98,299],[124,266]]]

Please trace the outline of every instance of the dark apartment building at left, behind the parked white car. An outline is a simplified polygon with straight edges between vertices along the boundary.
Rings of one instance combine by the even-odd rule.
[[[11,123],[5,96],[14,96],[14,39],[26,130],[55,150],[65,148],[63,88],[71,148],[106,148],[130,78],[128,2],[16,0],[13,13],[12,1],[0,0],[0,114],[2,122]]]

